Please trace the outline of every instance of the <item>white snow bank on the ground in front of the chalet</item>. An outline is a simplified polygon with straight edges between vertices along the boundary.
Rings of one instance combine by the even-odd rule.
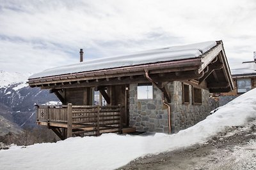
[[[0,166],[2,169],[115,169],[147,154],[204,143],[225,128],[245,125],[255,117],[256,89],[253,89],[177,134],[102,134],[100,137],[68,138],[26,148],[12,146],[9,150],[0,150]]]

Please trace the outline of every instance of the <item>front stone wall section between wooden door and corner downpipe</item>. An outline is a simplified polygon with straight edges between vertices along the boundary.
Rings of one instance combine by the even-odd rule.
[[[137,84],[130,84],[130,126],[137,131],[168,132],[168,113],[162,94],[153,87],[153,99],[137,99]]]

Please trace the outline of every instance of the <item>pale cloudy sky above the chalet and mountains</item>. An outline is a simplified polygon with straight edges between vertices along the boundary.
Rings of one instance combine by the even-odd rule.
[[[254,0],[0,0],[0,70],[36,73],[79,62],[223,40],[231,67],[253,60]]]

